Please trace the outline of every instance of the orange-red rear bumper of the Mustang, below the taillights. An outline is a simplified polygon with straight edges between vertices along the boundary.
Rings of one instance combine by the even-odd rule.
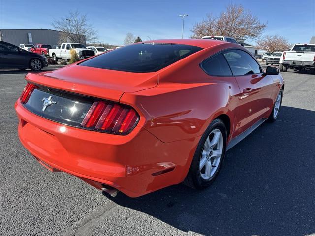
[[[83,130],[39,117],[15,103],[21,143],[51,171],[138,197],[184,180],[199,138],[163,143],[142,127],[128,135]]]

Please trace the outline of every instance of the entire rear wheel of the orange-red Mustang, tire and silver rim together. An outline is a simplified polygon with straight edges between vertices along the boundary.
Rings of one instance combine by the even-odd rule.
[[[218,142],[211,145],[215,139]],[[226,139],[227,131],[223,121],[213,120],[198,143],[189,172],[183,182],[185,185],[194,189],[203,189],[215,181],[225,157]],[[212,148],[208,148],[210,145]]]

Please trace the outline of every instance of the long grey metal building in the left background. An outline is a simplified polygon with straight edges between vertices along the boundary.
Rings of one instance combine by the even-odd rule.
[[[60,31],[52,29],[0,29],[0,41],[19,46],[21,43],[58,45]]]

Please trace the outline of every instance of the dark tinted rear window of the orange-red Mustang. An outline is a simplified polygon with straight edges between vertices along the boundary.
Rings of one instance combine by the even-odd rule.
[[[133,44],[101,54],[80,65],[127,72],[154,72],[201,49],[183,44]]]

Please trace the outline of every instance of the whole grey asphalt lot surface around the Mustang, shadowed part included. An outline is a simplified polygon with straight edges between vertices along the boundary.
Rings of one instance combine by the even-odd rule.
[[[227,152],[217,181],[131,199],[50,173],[20,144],[25,72],[0,72],[0,235],[315,234],[315,76],[284,72],[283,107]]]

